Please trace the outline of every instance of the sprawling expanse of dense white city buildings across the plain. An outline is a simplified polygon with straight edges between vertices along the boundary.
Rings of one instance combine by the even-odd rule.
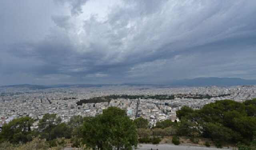
[[[170,119],[179,121],[176,110],[182,106],[200,109],[216,100],[230,99],[243,102],[256,98],[256,86],[206,86],[206,87],[155,87],[155,86],[106,86],[93,88],[49,88],[36,90],[29,88],[0,88],[0,127],[19,117],[30,116],[35,120],[32,128],[38,128],[38,120],[44,114],[57,114],[62,122],[68,122],[74,115],[96,116],[109,106],[126,110],[130,119],[148,119],[150,126]],[[212,98],[190,98],[193,95],[210,95]],[[110,102],[86,103],[80,100],[110,95],[154,96],[174,95],[172,100],[152,98],[118,98]],[[224,95],[224,96],[222,96]],[[227,96],[226,96],[227,95]],[[160,99],[160,98],[159,98]]]

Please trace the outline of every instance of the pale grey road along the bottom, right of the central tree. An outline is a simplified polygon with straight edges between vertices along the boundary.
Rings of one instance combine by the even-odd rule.
[[[184,145],[172,145],[172,144],[139,144],[138,150],[232,150],[232,148],[213,148],[213,147],[200,147],[200,146],[184,146]]]

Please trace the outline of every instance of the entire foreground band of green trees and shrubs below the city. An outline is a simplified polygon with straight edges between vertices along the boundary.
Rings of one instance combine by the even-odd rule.
[[[157,144],[164,136],[173,136],[174,144],[180,143],[178,136],[186,136],[194,143],[198,138],[207,138],[219,148],[237,144],[239,150],[255,150],[255,110],[256,99],[243,103],[219,100],[200,110],[184,106],[176,112],[180,122],[164,120],[152,128],[148,120],[132,121],[125,110],[116,107],[109,107],[96,117],[72,116],[67,123],[61,122],[56,114],[45,114],[35,130],[31,130],[34,120],[26,116],[2,126],[0,150],[35,146],[35,141],[39,147],[44,141],[45,145],[38,147],[42,150],[61,147],[67,141],[73,147],[131,149],[137,142]],[[205,142],[205,146],[210,146],[210,142]],[[22,148],[26,150],[25,147]]]

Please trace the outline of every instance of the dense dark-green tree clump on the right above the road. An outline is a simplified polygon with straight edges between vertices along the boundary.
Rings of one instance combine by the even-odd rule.
[[[248,144],[256,130],[255,110],[256,99],[244,103],[219,100],[200,110],[184,106],[177,111],[181,118],[178,135],[211,138],[218,147],[225,142]]]

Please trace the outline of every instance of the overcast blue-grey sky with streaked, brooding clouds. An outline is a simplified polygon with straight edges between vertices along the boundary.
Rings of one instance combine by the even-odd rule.
[[[1,0],[0,86],[256,80],[255,0]]]

